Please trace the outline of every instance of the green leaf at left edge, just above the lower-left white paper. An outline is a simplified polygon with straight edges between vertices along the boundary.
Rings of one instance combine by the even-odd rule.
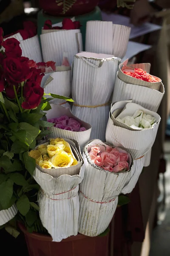
[[[8,209],[8,204],[13,194],[13,181],[8,179],[0,185],[0,203],[3,209]]]

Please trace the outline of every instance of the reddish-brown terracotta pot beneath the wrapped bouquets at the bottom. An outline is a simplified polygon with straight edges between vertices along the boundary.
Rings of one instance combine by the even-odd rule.
[[[18,225],[25,235],[29,256],[108,256],[109,234],[103,237],[78,234],[52,242],[51,236],[28,233],[23,224]]]

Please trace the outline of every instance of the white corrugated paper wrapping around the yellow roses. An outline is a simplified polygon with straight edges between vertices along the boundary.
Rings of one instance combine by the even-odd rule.
[[[42,169],[37,166],[34,179],[40,185],[39,206],[42,225],[53,241],[76,236],[79,218],[79,183],[84,177],[82,155],[76,141],[65,139],[79,158],[77,166],[59,169]],[[45,173],[48,172],[48,173]]]

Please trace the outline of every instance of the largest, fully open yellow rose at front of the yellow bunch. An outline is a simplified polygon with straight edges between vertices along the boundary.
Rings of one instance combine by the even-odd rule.
[[[51,163],[55,168],[69,167],[73,161],[73,157],[68,155],[65,151],[57,152],[54,157],[51,158]]]

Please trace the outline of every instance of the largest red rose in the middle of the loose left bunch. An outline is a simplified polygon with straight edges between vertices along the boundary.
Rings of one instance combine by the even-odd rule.
[[[32,75],[25,57],[22,58],[4,58],[3,72],[6,81],[11,85],[18,85],[26,81]]]

